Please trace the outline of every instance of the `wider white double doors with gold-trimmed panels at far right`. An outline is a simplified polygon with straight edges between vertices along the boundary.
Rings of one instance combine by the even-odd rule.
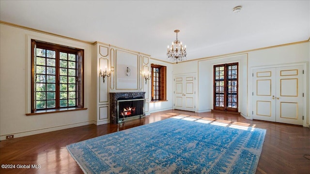
[[[253,119],[303,125],[303,66],[253,71]]]

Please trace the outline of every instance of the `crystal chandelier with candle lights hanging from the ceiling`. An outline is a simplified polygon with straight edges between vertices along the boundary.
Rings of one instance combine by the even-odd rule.
[[[167,58],[170,61],[178,63],[178,61],[186,60],[186,45],[183,47],[182,42],[178,40],[179,29],[174,30],[176,33],[176,40],[172,42],[171,47],[167,50]]]

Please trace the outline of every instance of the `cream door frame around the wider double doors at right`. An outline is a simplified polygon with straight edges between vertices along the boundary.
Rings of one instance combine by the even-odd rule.
[[[308,62],[297,62],[297,63],[286,63],[286,64],[276,64],[276,65],[266,65],[266,66],[254,66],[254,67],[250,67],[250,74],[248,74],[249,78],[249,82],[248,83],[248,95],[249,97],[249,101],[248,101],[248,111],[249,111],[249,115],[250,115],[250,119],[253,119],[253,98],[254,96],[252,95],[253,92],[253,72],[256,69],[263,69],[263,68],[279,68],[279,67],[288,67],[288,66],[303,66],[303,70],[304,70],[304,75],[303,75],[303,93],[304,93],[304,97],[303,97],[303,116],[304,116],[304,120],[303,120],[303,127],[308,127],[307,125],[307,121],[309,116],[307,116],[307,106],[308,106],[308,102],[307,102],[307,98],[308,98],[308,93],[307,93],[307,89],[308,89]]]

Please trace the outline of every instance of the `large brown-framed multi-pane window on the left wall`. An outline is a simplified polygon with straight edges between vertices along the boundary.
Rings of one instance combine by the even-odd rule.
[[[83,108],[83,50],[31,41],[31,113]]]

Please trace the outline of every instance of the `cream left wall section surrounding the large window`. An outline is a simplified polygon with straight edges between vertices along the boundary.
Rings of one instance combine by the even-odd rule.
[[[0,140],[92,124],[91,44],[0,24]],[[30,40],[38,39],[85,50],[84,103],[87,110],[26,116],[30,113]]]

